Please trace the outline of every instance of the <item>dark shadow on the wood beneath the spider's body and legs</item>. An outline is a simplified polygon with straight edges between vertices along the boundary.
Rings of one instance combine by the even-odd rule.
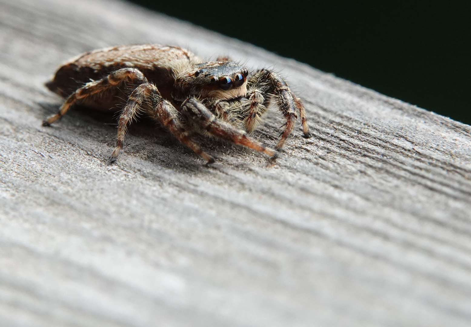
[[[38,102],[41,107],[40,115],[47,117],[57,112],[60,104]],[[39,116],[39,115],[38,115]],[[52,128],[64,127],[77,136],[88,137],[89,140],[104,143],[113,148],[117,132],[119,112],[99,112],[85,106],[76,106],[67,113],[63,119],[52,124]],[[38,120],[41,124],[41,120]],[[46,128],[51,128],[46,127]],[[262,133],[263,134],[263,133]],[[181,144],[170,132],[151,118],[141,115],[137,121],[133,121],[128,127],[128,136],[134,136],[139,140],[125,142],[124,152],[141,160],[153,162],[169,169],[184,171],[202,171],[206,167],[201,158],[193,151]],[[256,137],[259,135],[256,135]],[[249,149],[230,144],[212,137],[204,137],[198,134],[191,136],[206,151],[216,157],[216,162],[221,164],[225,160],[220,159],[228,151],[236,156],[249,154]],[[258,137],[257,137],[258,138]],[[137,142],[136,142],[137,141]],[[157,147],[155,146],[157,145]],[[160,148],[160,149],[159,149]],[[112,150],[110,150],[111,154]],[[263,154],[260,153],[260,157]],[[107,161],[107,157],[103,158]],[[252,160],[250,160],[252,161]]]

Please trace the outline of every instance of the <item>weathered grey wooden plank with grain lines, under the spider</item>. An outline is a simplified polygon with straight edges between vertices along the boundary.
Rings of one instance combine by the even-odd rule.
[[[110,166],[113,120],[41,127],[58,64],[141,42],[275,66],[314,137],[210,168],[141,123]],[[0,125],[1,326],[471,325],[470,126],[111,0],[0,0]]]

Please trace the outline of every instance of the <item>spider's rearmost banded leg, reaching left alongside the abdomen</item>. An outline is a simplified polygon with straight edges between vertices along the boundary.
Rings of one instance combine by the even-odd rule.
[[[73,106],[73,104],[77,103],[78,101],[83,100],[89,96],[105,92],[110,88],[117,87],[123,81],[135,83],[139,81],[144,82],[147,81],[147,79],[144,74],[136,68],[118,69],[101,80],[89,82],[83,87],[78,88],[61,105],[59,112],[50,116],[47,120],[43,120],[42,126],[49,126],[56,120],[60,119]]]

